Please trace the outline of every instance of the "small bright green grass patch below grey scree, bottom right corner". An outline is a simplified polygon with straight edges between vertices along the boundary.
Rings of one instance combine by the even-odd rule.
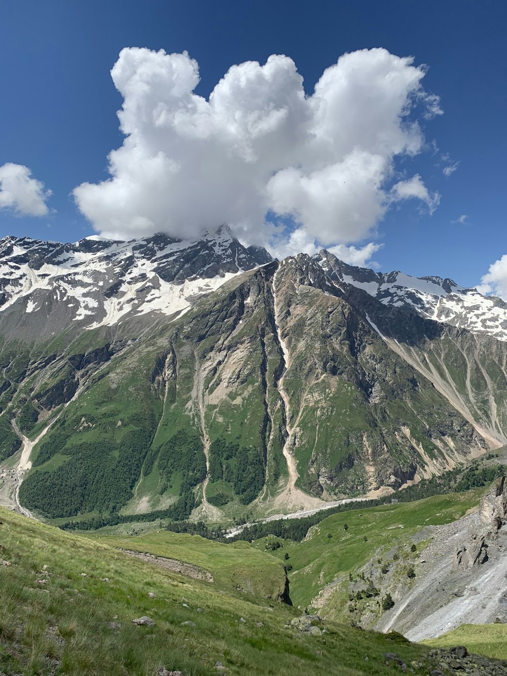
[[[435,648],[463,645],[469,652],[507,660],[507,625],[460,625],[423,643]]]

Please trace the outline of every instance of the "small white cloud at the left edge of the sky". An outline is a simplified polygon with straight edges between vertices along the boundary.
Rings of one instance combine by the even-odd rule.
[[[17,216],[46,216],[46,201],[51,195],[23,164],[0,166],[0,209],[12,209]]]

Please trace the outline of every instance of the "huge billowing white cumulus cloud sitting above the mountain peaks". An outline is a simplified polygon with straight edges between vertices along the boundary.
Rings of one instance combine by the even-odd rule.
[[[397,200],[437,206],[418,174],[393,188],[395,158],[423,149],[417,117],[441,113],[412,57],[347,53],[312,95],[284,55],[232,66],[208,99],[186,52],[122,49],[111,74],[124,143],[109,179],[74,189],[101,235],[193,237],[227,223],[275,253],[312,251],[375,235]]]

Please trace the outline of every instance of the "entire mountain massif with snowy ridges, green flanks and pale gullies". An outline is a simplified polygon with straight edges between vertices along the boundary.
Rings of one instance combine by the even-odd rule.
[[[225,227],[0,247],[3,504],[81,527],[225,522],[375,496],[507,442],[502,301],[448,279],[278,262]]]

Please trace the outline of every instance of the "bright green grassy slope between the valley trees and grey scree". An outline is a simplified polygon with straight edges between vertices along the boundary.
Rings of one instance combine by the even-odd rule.
[[[359,507],[324,518],[310,529],[302,542],[281,541],[281,548],[276,549],[274,556],[283,558],[285,552],[289,554],[293,604],[301,608],[310,606],[325,585],[333,585],[336,591],[329,596],[325,613],[335,619],[347,618],[349,573],[355,577],[371,559],[380,558],[381,563],[377,565],[381,568],[393,548],[399,551],[397,556],[408,571],[410,558],[418,555],[410,552],[412,536],[421,527],[455,521],[476,506],[479,497],[480,491],[468,491],[433,496],[415,503]],[[261,539],[257,546],[263,549],[266,541],[272,540],[273,536]]]

